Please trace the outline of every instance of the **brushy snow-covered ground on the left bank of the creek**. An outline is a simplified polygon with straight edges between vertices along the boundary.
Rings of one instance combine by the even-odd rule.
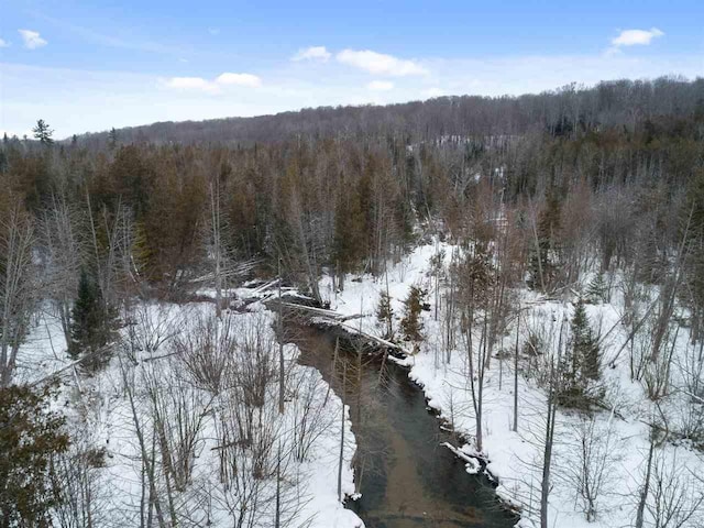
[[[246,294],[240,290],[240,295]],[[253,346],[263,343],[266,353],[272,354],[266,361],[274,360],[272,369],[277,369],[274,316],[261,302],[251,305],[249,310],[226,314],[224,320],[230,327],[221,326],[218,331],[231,334],[238,353],[253,353]],[[163,515],[176,512],[180,526],[237,526],[240,516],[245,517],[242,526],[274,526],[275,471],[280,452],[282,526],[363,527],[338,497],[342,402],[328,389],[318,371],[298,364],[299,351],[295,345],[285,346],[288,377],[283,416],[277,409],[275,381],[266,386],[264,404],[251,408],[251,415],[243,407],[241,393],[226,389],[216,395],[194,386],[174,340],[188,336],[198,321],[208,320],[213,312],[213,305],[209,302],[138,306],[130,316],[138,350],[117,352],[108,367],[95,376],[75,374],[73,369],[63,372],[56,406],[68,418],[74,439],[72,450],[106,449],[105,468],[91,468],[87,472],[94,494],[94,526],[140,526],[140,515],[146,515],[141,513],[141,505],[145,504],[144,495],[148,495],[145,481],[148,468],[142,464],[145,451],[146,458],[154,461]],[[122,332],[127,334],[128,329]],[[20,352],[18,381],[34,382],[68,364],[61,326],[46,307],[34,321]],[[235,408],[242,413],[235,416]],[[188,410],[189,416],[183,416],[184,410]],[[349,414],[349,409],[345,413]],[[230,437],[235,446],[223,447],[227,427],[223,417],[229,416],[232,427],[232,422],[249,416],[255,430],[252,444],[261,442],[271,447],[261,464],[254,460],[251,448],[240,446],[237,431]],[[168,461],[177,468],[174,474],[184,466],[190,468],[187,482],[180,488],[175,486],[175,477],[168,482],[165,479],[162,439],[154,433],[158,430],[157,420],[163,424],[174,452],[174,460]],[[342,493],[352,495],[351,461],[356,446],[349,416],[344,428],[341,484]],[[178,440],[194,430],[197,432],[193,452],[180,457]],[[143,443],[138,431],[142,433]],[[231,472],[229,486],[220,479],[221,453]],[[253,477],[257,471],[262,476]],[[256,508],[255,504],[258,504]]]

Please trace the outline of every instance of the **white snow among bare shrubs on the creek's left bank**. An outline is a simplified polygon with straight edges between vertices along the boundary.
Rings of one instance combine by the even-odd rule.
[[[238,293],[244,297],[252,292],[243,288]],[[231,314],[230,331],[235,339],[245,339],[241,337],[248,331],[256,330],[262,340],[274,343],[274,315],[258,301],[251,304],[249,310]],[[97,483],[96,526],[139,526],[143,474],[141,448],[128,389],[133,392],[142,430],[151,430],[154,418],[147,393],[148,384],[156,381],[154,383],[157,383],[161,392],[166,391],[170,383],[183,383],[184,378],[183,363],[169,346],[173,337],[190,329],[199,317],[212,312],[215,308],[210,302],[141,304],[131,315],[133,328],[142,343],[142,350],[135,353],[136,364],[120,352],[105,371],[92,377],[75,375],[73,370],[63,373],[62,396],[55,408],[67,416],[75,442],[72,449],[107,449],[107,466],[94,472]],[[127,332],[127,329],[123,331]],[[353,512],[344,508],[337,492],[342,402],[329,391],[317,370],[298,364],[298,354],[295,345],[285,346],[288,396],[284,415],[279,416],[276,409],[276,387],[267,389],[268,403],[258,411],[260,419],[263,420],[258,430],[271,431],[277,439],[273,446],[280,442],[282,452],[285,453],[282,473],[283,518],[293,520],[296,525],[309,522],[306,526],[312,528],[362,528],[364,524]],[[19,358],[18,382],[33,383],[70,364],[61,324],[48,307],[34,321]],[[123,377],[121,365],[128,372],[127,378]],[[178,391],[180,392],[180,385]],[[220,484],[219,426],[212,409],[217,407],[227,410],[238,403],[213,397],[207,391],[193,387],[180,394],[194,398],[194,408],[202,410],[204,425],[196,442],[191,479],[186,490],[172,492],[175,495],[175,507],[190,519],[200,519],[202,522],[209,519],[212,522],[210,526],[232,526],[229,510],[241,497],[238,497],[238,492],[233,488],[224,490]],[[309,449],[305,457],[300,457],[302,460],[299,460],[293,453],[302,442],[299,440],[296,443],[294,439],[301,436],[301,418],[306,406],[312,409],[307,422],[312,433],[309,437]],[[346,406],[344,413],[345,444],[341,484],[343,495],[352,496],[355,492],[352,458],[356,444]],[[151,446],[151,442],[150,436],[147,443]],[[158,447],[156,452],[158,453]],[[246,450],[240,453],[240,468],[254,466],[254,460],[248,457]],[[276,453],[270,454],[271,466],[275,465],[271,462],[275,459]],[[157,480],[160,486],[163,486],[161,471],[157,469]],[[250,481],[248,484],[256,487],[260,498],[275,496],[275,475]],[[161,488],[160,493],[165,503],[166,490]],[[273,526],[273,501],[264,504],[257,520],[251,526]]]

